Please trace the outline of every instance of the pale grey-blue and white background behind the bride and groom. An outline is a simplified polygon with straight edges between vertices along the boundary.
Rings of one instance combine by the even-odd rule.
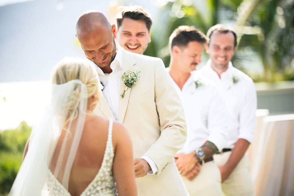
[[[131,3],[156,18],[156,0],[0,0],[0,130],[21,121],[34,125],[50,96],[56,63],[65,56],[85,58],[75,37],[81,13],[97,9],[114,23],[112,8]]]

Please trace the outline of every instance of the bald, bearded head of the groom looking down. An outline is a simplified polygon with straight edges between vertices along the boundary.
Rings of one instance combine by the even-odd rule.
[[[76,37],[89,60],[100,68],[110,66],[116,55],[116,28],[103,13],[84,12],[76,23]]]

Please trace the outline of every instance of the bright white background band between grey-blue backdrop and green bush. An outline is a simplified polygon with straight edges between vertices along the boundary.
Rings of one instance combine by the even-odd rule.
[[[21,121],[33,126],[50,98],[50,81],[0,83],[0,89],[0,130],[16,128]]]

